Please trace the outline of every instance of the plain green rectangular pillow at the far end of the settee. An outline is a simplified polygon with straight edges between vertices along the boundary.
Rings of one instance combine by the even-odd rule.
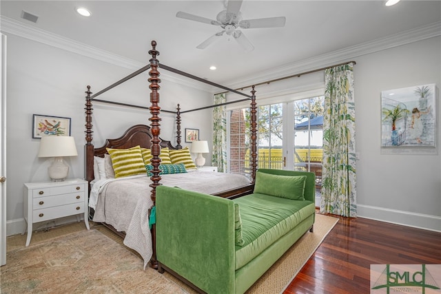
[[[305,182],[306,176],[280,176],[258,171],[254,193],[292,200],[305,200]]]

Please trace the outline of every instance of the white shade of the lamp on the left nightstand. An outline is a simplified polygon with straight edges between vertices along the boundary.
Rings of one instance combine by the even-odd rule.
[[[44,136],[41,137],[39,157],[77,156],[74,137]]]

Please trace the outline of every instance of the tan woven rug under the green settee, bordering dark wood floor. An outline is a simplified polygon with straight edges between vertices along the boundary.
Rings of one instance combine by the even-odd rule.
[[[337,222],[338,218],[316,213],[314,232],[305,233],[246,293],[283,293]],[[196,293],[196,291],[177,280],[170,273],[165,272],[164,275],[188,293]]]

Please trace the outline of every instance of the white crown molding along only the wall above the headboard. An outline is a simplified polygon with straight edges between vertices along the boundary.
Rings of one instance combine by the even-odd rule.
[[[54,48],[59,48],[61,50],[66,50],[75,54],[90,57],[92,59],[103,61],[105,63],[110,63],[112,65],[124,67],[129,70],[139,70],[147,65],[147,63],[141,63],[139,61],[134,61],[133,59],[127,59],[121,55],[65,38],[64,36],[61,36],[59,34],[53,34],[46,30],[35,28],[32,25],[21,23],[20,21],[16,21],[8,17],[0,17],[0,24],[1,32],[3,33],[14,34],[25,39],[43,43],[45,45],[50,45]],[[189,80],[189,78],[185,78],[183,76],[179,76],[173,73],[168,74],[167,72],[161,72],[161,79],[181,85],[186,85],[189,87],[194,87],[198,90],[205,90],[207,92],[213,91],[211,86],[205,85],[201,82]]]

